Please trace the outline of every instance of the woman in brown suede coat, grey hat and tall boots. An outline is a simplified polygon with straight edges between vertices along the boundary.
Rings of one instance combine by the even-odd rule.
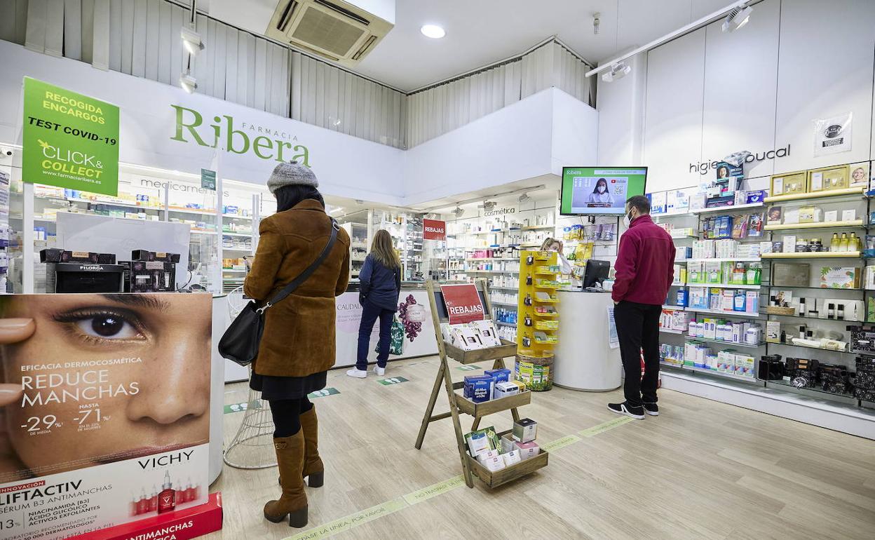
[[[325,248],[332,219],[311,170],[296,162],[276,165],[268,180],[276,214],[261,221],[255,261],[243,284],[262,304],[300,275]],[[321,487],[325,467],[318,454],[316,409],[307,394],[325,388],[334,365],[334,297],[349,281],[349,235],[339,228],[325,261],[288,298],[265,312],[264,334],[249,381],[270,403],[274,448],[283,494],[264,505],[264,517],[289,525],[307,524],[310,487]]]

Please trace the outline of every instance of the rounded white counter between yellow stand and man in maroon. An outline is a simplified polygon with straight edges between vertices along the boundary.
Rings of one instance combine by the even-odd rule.
[[[620,347],[608,344],[606,292],[558,291],[559,344],[553,382],[576,390],[606,391],[620,387],[623,364]]]

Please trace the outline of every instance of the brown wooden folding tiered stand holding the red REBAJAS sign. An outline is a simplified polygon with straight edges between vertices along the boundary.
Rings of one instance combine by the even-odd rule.
[[[492,301],[489,299],[489,290],[485,279],[479,279],[475,282],[477,291],[481,297],[484,307],[486,308],[486,319],[492,319]],[[423,439],[425,431],[428,429],[431,422],[443,420],[447,417],[452,417],[452,425],[456,431],[456,443],[458,445],[458,455],[462,461],[462,472],[465,477],[465,484],[468,487],[474,487],[472,473],[486,484],[487,487],[497,487],[501,484],[506,484],[509,481],[516,480],[521,476],[532,473],[537,469],[547,466],[549,453],[544,451],[534,458],[526,459],[512,466],[507,466],[500,471],[491,472],[486,467],[481,466],[477,459],[472,458],[465,445],[465,437],[462,433],[462,425],[459,421],[459,413],[465,413],[474,417],[474,423],[471,426],[471,431],[477,430],[480,424],[480,419],[486,415],[510,410],[514,417],[514,422],[520,419],[520,413],[517,412],[517,407],[528,405],[532,399],[531,392],[522,392],[515,396],[502,397],[500,399],[492,399],[483,403],[473,403],[464,396],[458,394],[455,390],[462,389],[465,386],[464,382],[452,382],[450,375],[450,367],[447,364],[447,358],[451,358],[462,364],[472,364],[478,361],[492,360],[493,369],[505,368],[504,359],[507,356],[516,354],[516,344],[501,340],[500,347],[489,347],[476,349],[472,351],[464,351],[458,347],[453,347],[449,343],[444,343],[444,336],[441,334],[440,325],[449,321],[444,296],[440,291],[439,285],[434,281],[429,280],[426,284],[429,292],[429,302],[431,305],[431,317],[434,322],[435,338],[437,339],[437,353],[440,356],[440,367],[437,368],[437,377],[435,377],[434,387],[431,389],[429,404],[425,408],[423,416],[423,424],[419,428],[419,435],[416,437],[416,450],[423,447]],[[441,383],[444,384],[447,399],[450,401],[450,411],[441,414],[432,414],[437,402],[437,395],[440,393]],[[510,430],[501,431],[499,437],[503,437]]]

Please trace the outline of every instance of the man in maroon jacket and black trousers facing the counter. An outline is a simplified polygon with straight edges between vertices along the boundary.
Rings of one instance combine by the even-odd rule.
[[[620,357],[626,371],[624,403],[610,403],[610,410],[644,419],[659,415],[656,386],[659,382],[659,317],[675,277],[675,243],[669,233],[650,219],[650,201],[637,195],[626,201],[627,231],[620,236],[614,263],[613,318],[620,339]],[[644,376],[641,377],[641,350]]]

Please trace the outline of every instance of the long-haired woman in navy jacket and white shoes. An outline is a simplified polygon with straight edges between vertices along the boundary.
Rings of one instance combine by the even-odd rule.
[[[374,373],[386,373],[392,319],[398,309],[398,295],[401,293],[401,259],[392,247],[392,236],[387,230],[378,230],[374,235],[371,252],[359,272],[359,282],[359,354],[355,368],[347,371],[346,375],[364,379],[367,377],[367,349],[376,319],[380,319],[380,352]]]

